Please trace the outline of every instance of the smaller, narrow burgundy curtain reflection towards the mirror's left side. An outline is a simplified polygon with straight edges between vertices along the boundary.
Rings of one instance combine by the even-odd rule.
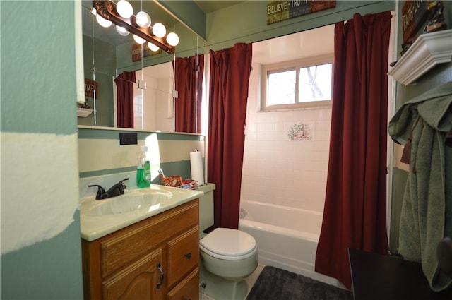
[[[124,71],[114,78],[117,86],[117,126],[133,128],[133,83],[135,71]]]

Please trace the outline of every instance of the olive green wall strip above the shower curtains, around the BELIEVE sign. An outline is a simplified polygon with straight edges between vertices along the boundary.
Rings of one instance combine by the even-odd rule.
[[[390,11],[393,1],[336,1],[336,7],[306,16],[267,25],[267,1],[244,1],[207,15],[208,47],[219,50],[236,42],[258,42],[349,20],[355,13],[362,15]],[[251,17],[252,16],[252,17]]]

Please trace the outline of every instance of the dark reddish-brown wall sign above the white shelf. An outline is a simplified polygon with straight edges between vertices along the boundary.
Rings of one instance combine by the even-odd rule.
[[[402,30],[403,30],[403,42],[408,42],[411,37],[416,35],[416,32],[420,30],[424,25],[429,11],[427,9],[429,1],[405,1],[402,7]]]

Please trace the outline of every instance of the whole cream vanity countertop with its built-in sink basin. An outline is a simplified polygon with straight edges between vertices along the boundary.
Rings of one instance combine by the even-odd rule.
[[[126,188],[124,195],[103,200],[81,199],[81,237],[94,241],[148,217],[203,196],[202,191],[151,184],[150,188]]]

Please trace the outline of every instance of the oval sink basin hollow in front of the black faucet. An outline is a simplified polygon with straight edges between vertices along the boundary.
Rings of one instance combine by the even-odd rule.
[[[89,215],[117,215],[135,210],[153,210],[172,197],[169,191],[133,191],[114,198],[98,200],[99,204],[88,211]]]

